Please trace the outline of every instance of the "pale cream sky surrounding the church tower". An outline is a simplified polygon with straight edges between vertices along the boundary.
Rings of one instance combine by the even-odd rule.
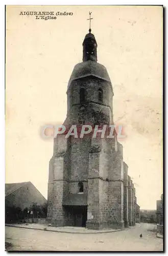
[[[21,11],[73,12],[40,20]],[[6,11],[6,183],[31,181],[47,198],[53,140],[44,125],[62,124],[67,84],[91,29],[98,62],[110,76],[115,124],[126,138],[137,203],[156,209],[162,194],[162,8],[159,6],[8,6]]]

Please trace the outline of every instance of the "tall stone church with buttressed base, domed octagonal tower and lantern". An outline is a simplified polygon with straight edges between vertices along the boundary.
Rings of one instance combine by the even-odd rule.
[[[89,29],[83,61],[67,86],[65,126],[113,124],[113,88],[106,68],[97,62],[98,44]],[[47,222],[52,226],[124,229],[135,225],[136,196],[123,146],[114,138],[54,138],[49,164]]]

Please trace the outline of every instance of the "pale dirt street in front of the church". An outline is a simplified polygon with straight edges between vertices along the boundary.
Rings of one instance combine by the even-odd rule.
[[[59,233],[6,226],[7,250],[31,251],[162,251],[153,224],[136,224],[112,233]],[[142,233],[142,238],[139,234]]]

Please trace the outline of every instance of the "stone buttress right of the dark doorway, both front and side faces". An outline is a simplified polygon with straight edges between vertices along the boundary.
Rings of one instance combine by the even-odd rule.
[[[118,145],[116,154],[113,145],[106,139],[92,139],[88,176],[88,228],[124,228],[122,147]],[[117,158],[113,155],[117,155]]]

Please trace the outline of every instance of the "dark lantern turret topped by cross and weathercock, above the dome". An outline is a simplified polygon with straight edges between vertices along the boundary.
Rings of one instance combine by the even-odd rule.
[[[89,15],[91,15],[91,12],[89,12]],[[90,26],[91,26],[91,19],[93,18],[87,19],[90,21]],[[87,61],[87,60],[97,61],[98,45],[94,35],[91,33],[90,26],[89,26],[89,33],[86,34],[85,39],[83,41],[83,61]]]

